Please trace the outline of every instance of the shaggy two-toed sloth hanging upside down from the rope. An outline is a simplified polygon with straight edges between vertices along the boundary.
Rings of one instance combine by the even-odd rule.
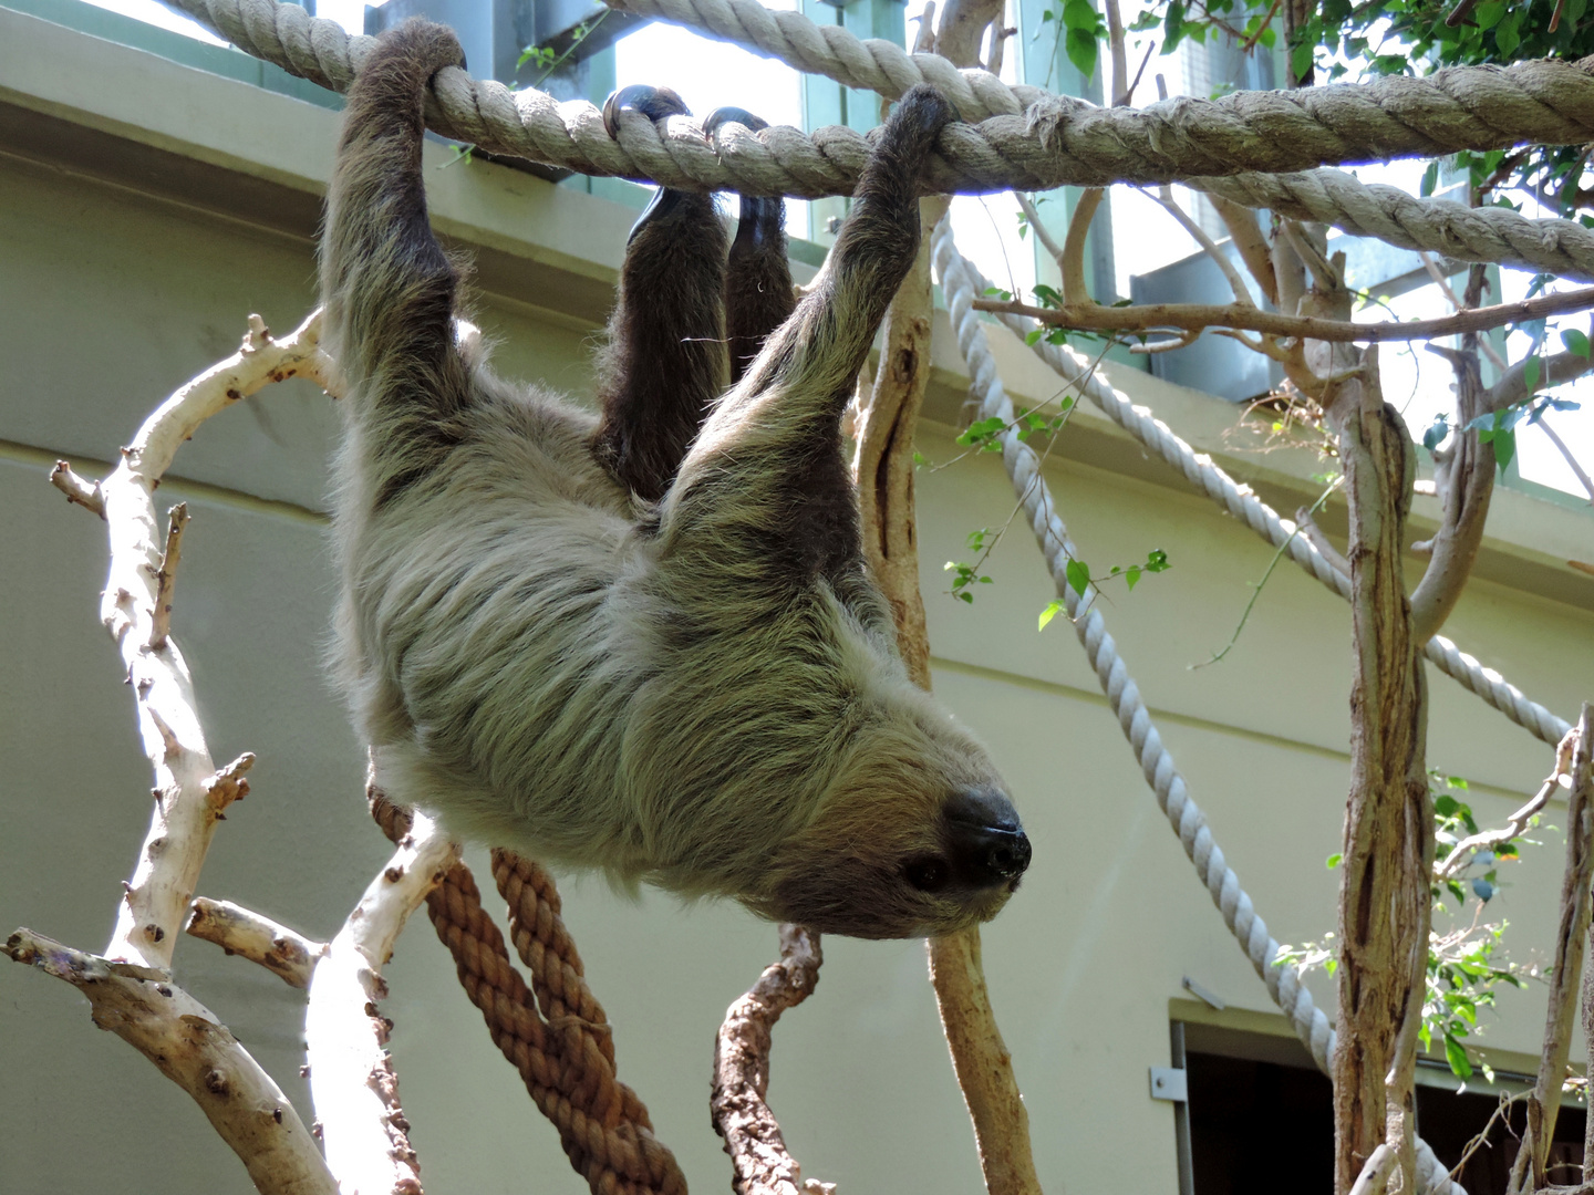
[[[456,335],[421,177],[454,35],[386,33],[347,96],[320,250],[346,381],[336,672],[376,781],[459,838],[866,938],[991,918],[1030,862],[987,750],[907,677],[840,421],[918,245],[931,88],[880,131],[800,303],[778,198],[735,244],[662,190],[595,416]],[[658,120],[673,92],[606,105]],[[754,123],[740,110],[724,120]]]

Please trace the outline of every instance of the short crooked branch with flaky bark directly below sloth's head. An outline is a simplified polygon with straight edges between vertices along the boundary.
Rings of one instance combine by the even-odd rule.
[[[781,958],[725,1010],[714,1039],[714,1093],[709,1115],[725,1139],[736,1195],[829,1195],[834,1184],[803,1179],[786,1149],[765,1096],[770,1088],[770,1036],[775,1021],[813,994],[819,983],[819,935],[781,926]]]

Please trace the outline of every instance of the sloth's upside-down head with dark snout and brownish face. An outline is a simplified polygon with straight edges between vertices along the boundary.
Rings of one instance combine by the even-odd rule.
[[[905,690],[905,692],[904,692]],[[990,921],[1030,840],[985,749],[904,685],[848,736],[808,825],[773,860],[759,913],[824,934],[905,938]]]

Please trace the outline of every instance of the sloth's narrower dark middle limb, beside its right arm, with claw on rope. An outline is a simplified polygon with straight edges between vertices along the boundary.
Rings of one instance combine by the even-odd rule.
[[[754,132],[770,127],[768,121],[746,108],[714,108],[703,120],[703,135],[713,140],[716,129],[732,123]],[[786,201],[778,194],[744,194],[725,266],[725,346],[732,386],[741,381],[764,341],[795,306],[786,261]]]

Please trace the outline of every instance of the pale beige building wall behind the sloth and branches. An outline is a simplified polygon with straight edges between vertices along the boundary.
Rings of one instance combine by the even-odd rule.
[[[285,328],[311,306],[333,132],[322,108],[0,10],[0,609],[11,626],[0,929],[99,948],[148,816],[147,765],[96,621],[104,529],[45,472],[57,456],[99,470],[161,397],[233,351],[250,311]],[[631,212],[491,164],[427,177],[438,226],[478,255],[481,322],[501,339],[504,371],[583,392]],[[1022,346],[993,339],[1017,397],[1055,394]],[[1117,378],[1286,510],[1315,491],[1309,475],[1321,465],[1301,454],[1232,449],[1234,408],[1144,374]],[[950,424],[964,389],[942,335],[920,445],[931,462],[960,451]],[[312,935],[335,932],[387,854],[360,800],[360,744],[320,666],[333,437],[327,400],[284,386],[207,424],[161,491],[194,515],[174,628],[212,750],[260,757],[201,892]],[[1108,623],[1272,932],[1320,935],[1334,918],[1323,857],[1337,849],[1345,792],[1347,607],[1285,566],[1229,658],[1192,671],[1227,642],[1270,548],[1092,411],[1049,473],[1093,566],[1168,551],[1172,572],[1109,593]],[[1146,1082],[1149,1064],[1167,1063],[1170,999],[1191,977],[1235,1009],[1272,1009],[1070,628],[1036,633],[1052,594],[1022,529],[993,554],[998,582],[976,605],[944,594],[940,566],[968,558],[966,534],[1009,518],[999,464],[926,468],[920,503],[936,687],[990,741],[1035,840],[1023,891],[985,931],[985,966],[1042,1184],[1173,1192],[1172,1106],[1149,1099]],[[1492,518],[1482,575],[1449,631],[1570,717],[1594,676],[1594,582],[1562,561],[1589,558],[1594,521],[1513,494]],[[1473,779],[1481,817],[1514,808],[1548,760],[1543,744],[1435,674],[1431,763]],[[1519,958],[1551,942],[1562,838],[1541,838],[1490,905],[1511,919]],[[480,852],[472,862],[486,873]],[[595,878],[567,880],[564,894],[622,1077],[693,1187],[722,1189],[728,1171],[706,1117],[711,1042],[725,1005],[773,958],[773,931],[728,905],[682,908],[655,892],[633,903]],[[976,1190],[923,943],[829,940],[826,956],[818,996],[778,1029],[773,1064],[771,1099],[805,1173],[851,1192]],[[180,946],[175,978],[309,1119],[298,993],[199,942]],[[427,1189],[580,1192],[424,924],[400,942],[389,980],[384,1012]],[[1313,989],[1329,997],[1321,981]],[[1503,1060],[1537,1050],[1541,1015],[1538,989],[1503,999],[1487,1029]],[[112,1187],[209,1195],[249,1184],[188,1098],[97,1032],[84,1001],[0,967],[0,1190]]]

